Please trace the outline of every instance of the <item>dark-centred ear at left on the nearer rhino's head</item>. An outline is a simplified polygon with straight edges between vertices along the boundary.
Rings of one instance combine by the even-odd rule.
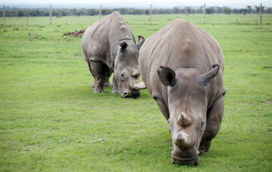
[[[160,77],[160,81],[166,86],[174,86],[177,82],[175,72],[168,67],[160,66],[158,75]]]

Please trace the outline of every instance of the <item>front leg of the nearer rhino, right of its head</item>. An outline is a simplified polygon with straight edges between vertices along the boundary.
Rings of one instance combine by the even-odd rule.
[[[218,133],[223,118],[223,111],[224,97],[222,95],[221,97],[216,99],[211,105],[210,109],[208,109],[206,129],[199,145],[200,155],[204,155],[204,152],[207,152],[209,150],[211,146],[211,140]]]

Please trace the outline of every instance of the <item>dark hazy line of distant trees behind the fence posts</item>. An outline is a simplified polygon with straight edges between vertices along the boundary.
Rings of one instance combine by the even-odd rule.
[[[184,8],[174,7],[173,9],[152,9],[152,14],[201,14],[204,7],[198,9],[186,6]],[[101,9],[102,15],[111,14],[118,11],[121,15],[149,15],[149,9],[134,9],[134,8],[118,8],[118,9]],[[206,14],[225,13],[225,14],[254,14],[259,13],[260,6],[245,6],[244,9],[231,9],[228,6],[218,7],[212,6],[206,8]],[[22,8],[5,8],[6,17],[26,17],[26,16],[49,16],[49,9],[22,9]],[[272,13],[271,7],[262,6],[262,13]],[[52,16],[82,16],[82,15],[99,15],[99,9],[52,9]],[[3,17],[3,8],[0,9],[0,17]]]

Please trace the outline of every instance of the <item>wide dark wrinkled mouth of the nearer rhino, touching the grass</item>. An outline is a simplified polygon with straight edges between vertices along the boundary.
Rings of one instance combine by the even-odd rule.
[[[198,151],[182,151],[177,146],[172,148],[172,163],[180,165],[198,165],[200,162]]]

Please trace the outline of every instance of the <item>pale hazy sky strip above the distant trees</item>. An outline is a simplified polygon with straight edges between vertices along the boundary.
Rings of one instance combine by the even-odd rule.
[[[47,7],[52,5],[53,8],[149,8],[152,4],[153,8],[173,8],[175,6],[229,6],[231,8],[244,8],[246,5],[260,5],[266,7],[272,7],[272,0],[237,0],[237,1],[226,1],[226,0],[0,0],[0,5],[6,7],[22,7],[35,6],[37,8]],[[32,8],[30,7],[30,8]]]

